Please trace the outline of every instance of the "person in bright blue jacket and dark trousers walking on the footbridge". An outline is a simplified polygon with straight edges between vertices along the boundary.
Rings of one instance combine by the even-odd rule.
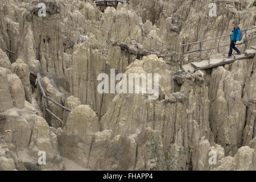
[[[228,59],[232,57],[232,51],[235,49],[237,51],[236,55],[241,55],[241,52],[236,48],[236,42],[240,40],[240,27],[238,27],[238,24],[236,21],[233,22],[233,27],[234,30],[232,31],[232,38],[231,38],[231,43],[229,46],[229,56]]]

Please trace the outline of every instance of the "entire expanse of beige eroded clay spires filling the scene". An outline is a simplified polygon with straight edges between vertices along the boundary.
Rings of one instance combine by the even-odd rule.
[[[181,44],[228,35],[233,20],[242,30],[255,26],[250,0],[218,1],[213,17],[210,2],[133,0],[100,11],[92,0],[47,0],[40,17],[39,1],[2,0],[0,169],[63,170],[62,156],[88,169],[174,169],[151,163],[146,151],[154,136],[161,160],[185,150],[176,170],[255,170],[256,56],[208,71],[180,70],[199,60],[199,53],[181,55],[198,44]],[[227,42],[229,36],[203,48]],[[255,44],[248,43],[246,55]],[[111,69],[127,78],[158,74],[158,97],[150,99],[142,83],[134,85],[138,93],[99,93],[98,75],[110,78]],[[32,94],[30,73],[40,73],[46,95],[72,110],[47,101],[64,125],[48,112],[41,117],[40,90]],[[38,164],[39,151],[46,152],[46,165]]]

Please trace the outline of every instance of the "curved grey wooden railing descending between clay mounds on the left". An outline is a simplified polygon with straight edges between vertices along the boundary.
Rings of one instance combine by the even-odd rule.
[[[46,93],[44,92],[44,89],[43,89],[43,86],[41,84],[41,81],[40,81],[40,73],[37,74],[37,77],[36,77],[36,81],[37,81],[37,84],[40,88],[40,92],[42,93],[42,100],[41,100],[41,104],[39,105],[42,105],[42,109],[43,109],[43,117],[44,119],[46,118],[46,111],[48,111],[49,114],[51,114],[53,117],[55,117],[58,121],[60,121],[61,123],[63,123],[63,121],[61,121],[61,119],[59,117],[57,117],[55,114],[52,113],[51,110],[47,109],[47,103],[46,103],[46,100],[49,100],[51,101],[53,104],[61,107],[62,109],[65,109],[69,112],[71,112],[72,110],[69,109],[68,107],[65,107],[59,103],[57,103],[56,101],[52,100],[51,98],[47,97],[46,96]],[[64,123],[63,123],[64,124]]]

